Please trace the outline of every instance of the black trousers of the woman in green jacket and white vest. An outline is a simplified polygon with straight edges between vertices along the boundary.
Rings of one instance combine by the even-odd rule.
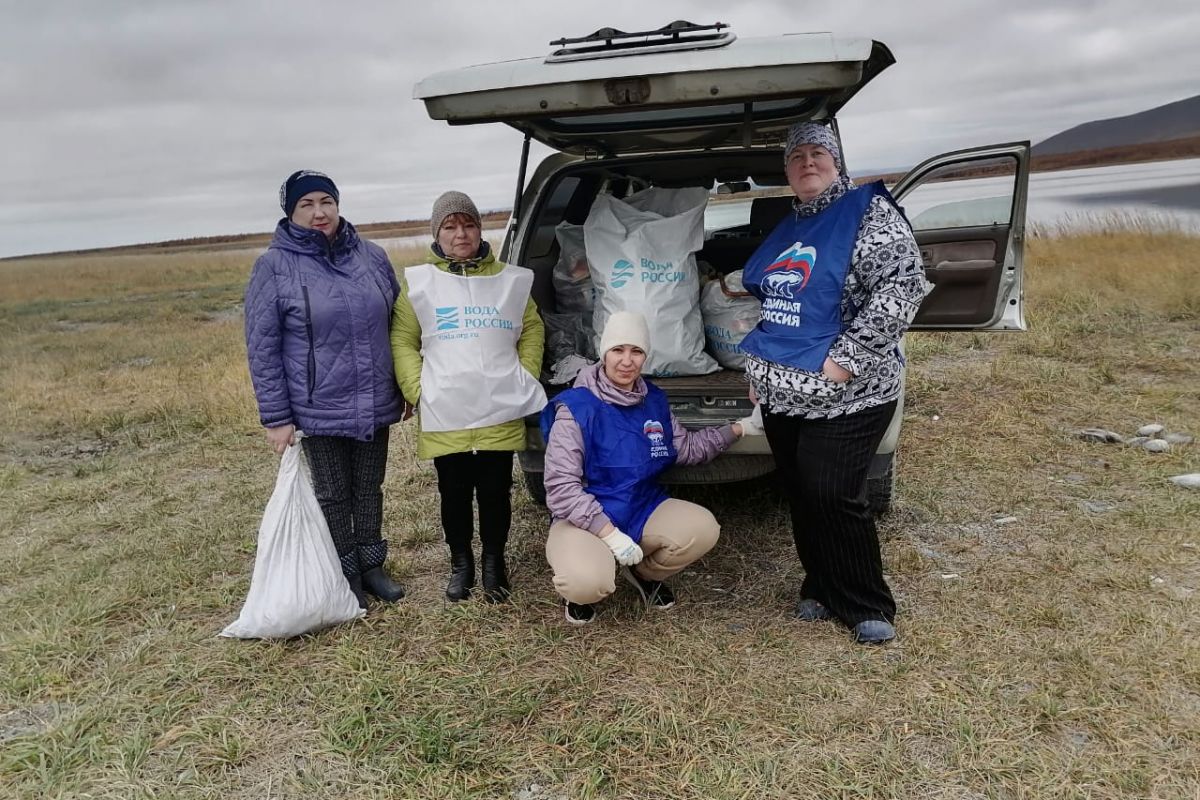
[[[503,554],[512,523],[512,451],[480,450],[433,459],[442,495],[442,529],[450,552],[470,549],[472,501],[479,503],[479,539],[485,553]]]

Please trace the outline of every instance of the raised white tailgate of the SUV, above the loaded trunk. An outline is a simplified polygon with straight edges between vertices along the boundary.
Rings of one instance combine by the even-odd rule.
[[[433,119],[504,122],[576,155],[749,148],[779,144],[799,120],[832,119],[894,62],[868,38],[731,36],[715,46],[625,47],[439,72],[413,96]]]

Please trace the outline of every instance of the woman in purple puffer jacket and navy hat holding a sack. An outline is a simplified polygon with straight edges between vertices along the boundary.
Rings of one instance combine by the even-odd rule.
[[[266,440],[282,453],[298,431],[317,500],[350,589],[395,602],[384,571],[388,426],[403,398],[388,321],[400,285],[383,249],[338,213],[337,187],[301,170],[280,188],[284,217],[246,287],[246,351]]]

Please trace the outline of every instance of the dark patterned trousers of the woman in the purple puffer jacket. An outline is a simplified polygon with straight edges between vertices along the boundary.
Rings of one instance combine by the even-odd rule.
[[[374,432],[371,441],[350,437],[305,437],[300,440],[308,458],[312,486],[325,513],[334,547],[347,570],[347,557],[358,546],[374,545],[383,537],[383,476],[388,467],[388,428]],[[370,551],[364,570],[383,564],[376,558],[379,547]],[[384,552],[384,555],[386,553]],[[353,570],[356,572],[356,570]]]

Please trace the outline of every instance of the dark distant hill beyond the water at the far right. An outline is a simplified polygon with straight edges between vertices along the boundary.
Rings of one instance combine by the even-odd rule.
[[[1128,116],[1076,125],[1033,145],[1033,155],[1052,156],[1196,136],[1200,136],[1200,95]]]

